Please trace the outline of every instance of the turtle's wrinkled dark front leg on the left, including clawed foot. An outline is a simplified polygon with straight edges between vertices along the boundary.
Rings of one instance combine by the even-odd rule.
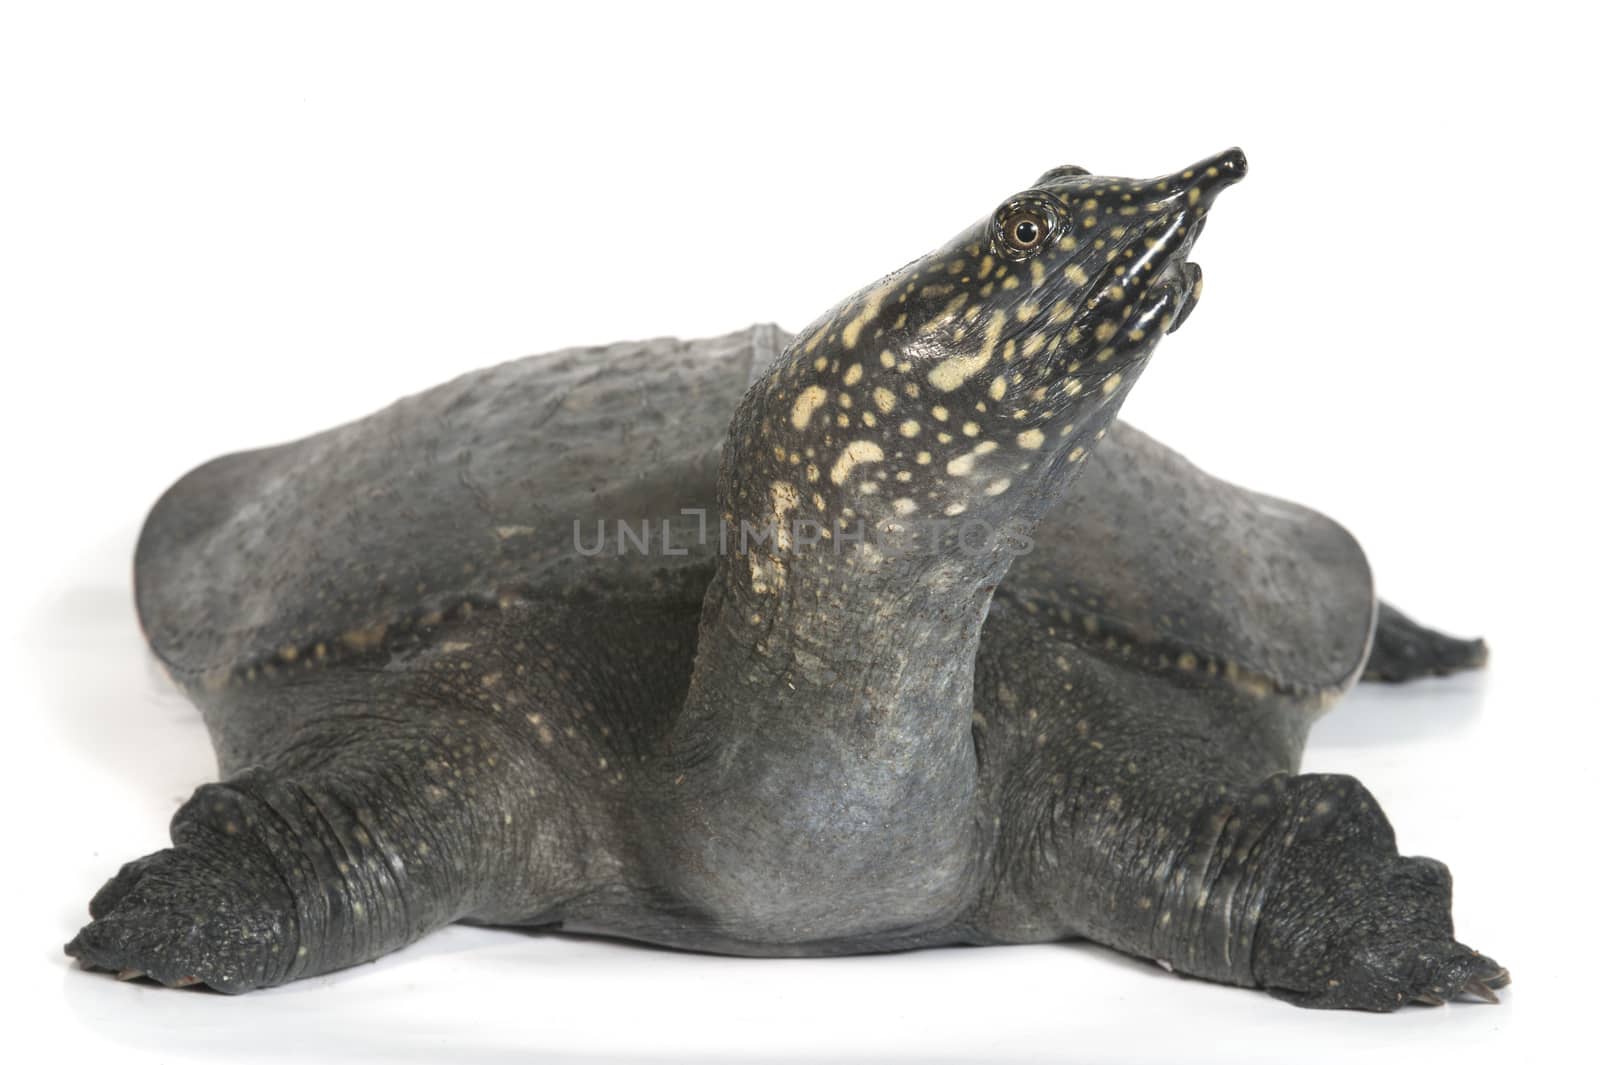
[[[523,737],[466,704],[347,699],[357,683],[307,681],[296,699],[325,692],[325,713],[200,787],[173,846],[94,895],[67,953],[238,993],[371,961],[456,919],[531,913],[526,881],[550,873],[541,840],[563,812],[530,795]],[[293,720],[285,692],[258,697]]]

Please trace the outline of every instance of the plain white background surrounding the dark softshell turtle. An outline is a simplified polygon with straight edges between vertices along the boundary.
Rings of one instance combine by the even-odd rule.
[[[1594,32],[1578,5],[8,5],[0,966],[22,1059],[1517,1060],[1587,1022]],[[1086,945],[734,961],[451,929],[229,999],[59,953],[214,772],[128,595],[214,454],[565,344],[798,328],[1056,163],[1240,144],[1126,406],[1322,507],[1483,676],[1362,691],[1499,1007],[1315,1014]],[[1534,1059],[1538,1060],[1538,1059]]]

